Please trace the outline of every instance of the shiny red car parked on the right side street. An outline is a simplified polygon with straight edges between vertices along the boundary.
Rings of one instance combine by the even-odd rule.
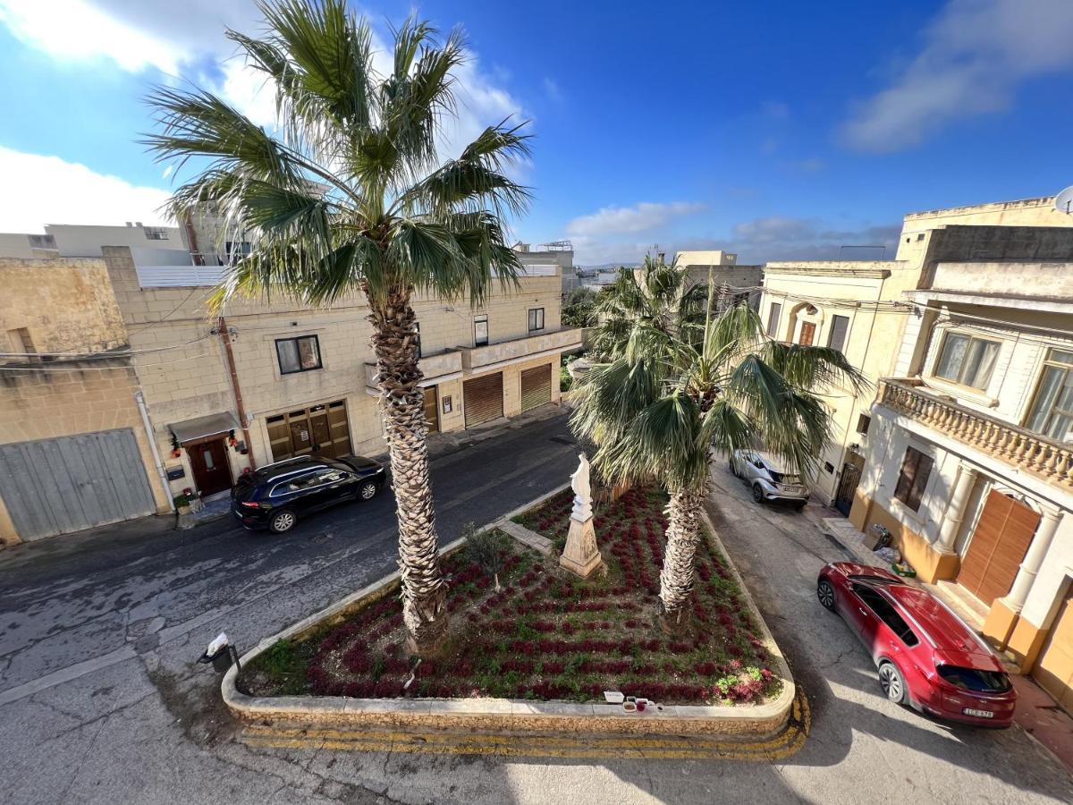
[[[1017,693],[995,653],[930,592],[882,568],[833,562],[817,597],[871,652],[886,698],[939,718],[1009,727]]]

